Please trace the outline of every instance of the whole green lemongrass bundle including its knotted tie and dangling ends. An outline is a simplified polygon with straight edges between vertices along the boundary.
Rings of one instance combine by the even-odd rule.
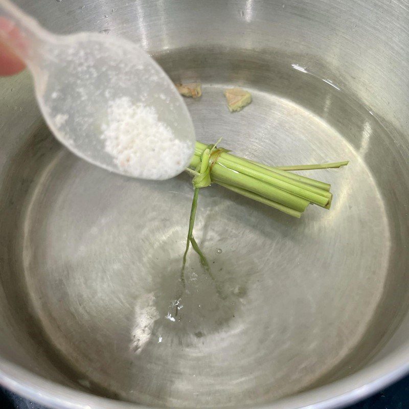
[[[221,140],[221,139],[220,139]],[[216,284],[221,298],[222,291],[210,270],[209,262],[193,237],[199,190],[216,183],[242,196],[278,209],[294,217],[301,217],[310,203],[329,209],[332,202],[331,185],[290,171],[335,169],[348,165],[348,161],[317,165],[272,167],[229,153],[217,144],[196,142],[195,154],[186,171],[193,176],[194,194],[189,219],[186,249],[180,271],[180,282],[186,289],[185,268],[190,244],[198,254],[200,264]],[[177,314],[177,307],[176,307]]]

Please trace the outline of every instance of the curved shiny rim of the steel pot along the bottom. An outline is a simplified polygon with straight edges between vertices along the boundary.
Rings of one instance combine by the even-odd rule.
[[[320,388],[278,399],[258,409],[335,409],[366,398],[409,372],[409,343],[356,373]],[[0,357],[0,383],[14,393],[58,409],[148,409],[65,387]]]

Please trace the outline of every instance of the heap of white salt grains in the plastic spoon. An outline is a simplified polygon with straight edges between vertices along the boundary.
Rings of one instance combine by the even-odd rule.
[[[125,173],[143,179],[168,179],[189,164],[191,145],[176,139],[158,119],[155,108],[132,104],[130,98],[113,100],[107,125],[102,128],[105,151]]]

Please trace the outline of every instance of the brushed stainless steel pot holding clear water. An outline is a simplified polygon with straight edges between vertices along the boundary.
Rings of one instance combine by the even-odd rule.
[[[19,0],[57,33],[140,41],[187,101],[197,139],[310,175],[330,211],[301,220],[212,187],[189,259],[191,199],[97,169],[40,118],[29,75],[0,79],[0,382],[58,408],[333,408],[409,369],[409,3]],[[226,86],[253,103],[230,114]],[[219,250],[222,250],[220,252]],[[174,308],[174,305],[173,305]]]

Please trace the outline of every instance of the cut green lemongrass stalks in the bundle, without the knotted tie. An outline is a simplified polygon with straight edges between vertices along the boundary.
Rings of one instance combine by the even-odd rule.
[[[290,170],[339,168],[348,164],[337,162],[271,167],[235,156],[216,146],[212,148],[208,169],[213,183],[295,217],[300,217],[310,203],[329,209],[332,193],[331,185],[291,173]],[[210,146],[196,142],[195,154],[187,169],[189,173],[200,173],[198,169],[206,149],[210,149]]]

